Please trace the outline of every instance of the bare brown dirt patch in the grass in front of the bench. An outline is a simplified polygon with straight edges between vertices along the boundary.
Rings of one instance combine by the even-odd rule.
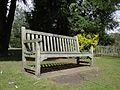
[[[91,69],[89,71],[53,77],[50,80],[62,84],[79,85],[82,81],[90,80],[97,76],[98,70]]]

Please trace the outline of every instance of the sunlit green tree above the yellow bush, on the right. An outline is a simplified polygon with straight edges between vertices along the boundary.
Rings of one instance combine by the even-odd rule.
[[[71,4],[69,21],[72,33],[99,33],[99,44],[110,44],[112,39],[105,33],[105,30],[113,29],[118,25],[113,19],[113,13],[118,9],[116,7],[119,3],[119,0],[80,0]]]

